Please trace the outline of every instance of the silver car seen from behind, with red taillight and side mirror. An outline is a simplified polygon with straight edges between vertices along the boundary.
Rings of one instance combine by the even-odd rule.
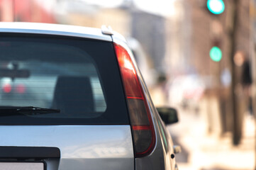
[[[165,128],[177,112],[157,112],[121,35],[43,23],[0,35],[0,169],[177,169]]]

